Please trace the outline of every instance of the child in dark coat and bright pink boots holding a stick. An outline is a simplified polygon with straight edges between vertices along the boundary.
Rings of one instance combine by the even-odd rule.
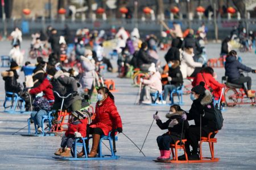
[[[185,112],[180,109],[179,105],[172,105],[170,107],[170,113],[166,114],[168,120],[164,123],[159,119],[158,115],[154,114],[153,118],[156,120],[156,125],[162,130],[168,129],[168,132],[162,136],[158,136],[156,139],[160,150],[158,160],[169,160],[171,154],[170,144],[175,144],[175,142],[181,138],[184,139],[185,130],[189,127],[188,121],[186,121],[187,115],[184,113]]]

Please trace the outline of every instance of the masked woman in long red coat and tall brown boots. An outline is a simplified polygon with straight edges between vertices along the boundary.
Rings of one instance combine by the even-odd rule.
[[[117,107],[115,107],[114,96],[109,92],[108,88],[100,87],[98,90],[98,102],[96,103],[96,117],[87,128],[88,134],[93,136],[92,150],[88,157],[95,157],[97,155],[98,143],[101,135],[108,135],[110,131],[117,129],[122,132],[122,121],[118,114]],[[87,135],[89,136],[89,135]],[[77,154],[77,157],[82,157],[84,151]]]

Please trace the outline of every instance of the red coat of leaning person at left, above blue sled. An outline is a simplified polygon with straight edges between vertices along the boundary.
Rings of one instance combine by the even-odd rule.
[[[38,87],[30,90],[30,94],[38,94],[40,92],[44,93],[44,97],[48,99],[48,101],[54,101],[52,85],[47,78],[44,78],[43,82]]]

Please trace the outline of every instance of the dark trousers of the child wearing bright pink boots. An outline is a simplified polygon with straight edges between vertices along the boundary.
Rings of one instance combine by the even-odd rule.
[[[158,148],[159,150],[170,150],[170,144],[175,144],[177,140],[180,140],[177,136],[174,135],[163,135],[158,136],[156,138],[156,142],[158,142]]]

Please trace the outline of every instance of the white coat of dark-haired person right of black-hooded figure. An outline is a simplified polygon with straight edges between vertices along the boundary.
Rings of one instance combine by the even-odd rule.
[[[183,77],[189,77],[195,71],[196,67],[202,67],[203,64],[195,62],[193,55],[184,51],[182,53],[181,65],[181,73],[183,74]]]

